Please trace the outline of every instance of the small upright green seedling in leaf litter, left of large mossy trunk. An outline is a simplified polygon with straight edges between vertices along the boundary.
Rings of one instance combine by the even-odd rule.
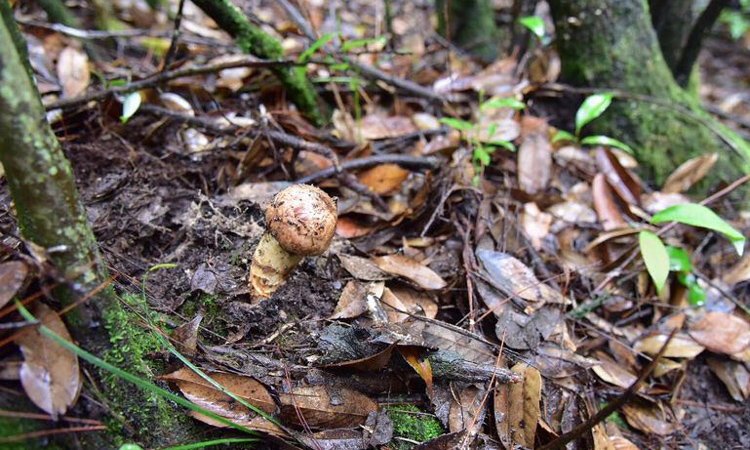
[[[482,114],[485,114],[491,109],[497,108],[511,108],[511,109],[524,109],[526,105],[516,100],[515,98],[495,98],[490,99],[486,102],[482,102],[482,95],[480,93],[480,105],[479,105],[479,120],[476,123],[467,122],[461,119],[454,119],[452,117],[443,117],[440,119],[440,123],[447,125],[455,130],[461,132],[465,140],[471,143],[473,148],[472,162],[474,163],[474,169],[476,174],[474,175],[474,185],[479,185],[479,180],[484,173],[484,168],[490,165],[491,154],[498,148],[502,147],[511,152],[516,151],[516,146],[512,142],[503,139],[492,139],[497,131],[497,125],[490,125],[487,129],[487,136],[489,140],[483,142],[479,139],[479,123],[481,122]]]

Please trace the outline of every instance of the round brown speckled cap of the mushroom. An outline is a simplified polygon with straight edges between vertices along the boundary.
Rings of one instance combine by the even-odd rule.
[[[266,209],[269,233],[284,250],[295,255],[325,252],[331,245],[336,220],[336,202],[308,184],[284,189]]]

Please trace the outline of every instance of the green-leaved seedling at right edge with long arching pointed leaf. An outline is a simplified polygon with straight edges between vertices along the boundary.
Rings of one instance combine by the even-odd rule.
[[[651,217],[651,223],[658,225],[665,222],[679,222],[694,227],[706,228],[723,234],[742,256],[745,237],[719,217],[711,209],[696,203],[685,203],[671,206]],[[643,230],[638,236],[641,257],[646,264],[656,291],[661,293],[670,272],[677,274],[677,281],[688,289],[688,301],[691,305],[700,305],[706,299],[706,293],[697,283],[693,274],[688,253],[679,247],[665,246],[655,233]]]

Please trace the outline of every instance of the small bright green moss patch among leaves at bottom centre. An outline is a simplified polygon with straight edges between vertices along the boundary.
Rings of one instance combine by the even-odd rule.
[[[425,413],[414,405],[391,405],[386,407],[386,412],[393,421],[394,437],[425,442],[445,433],[445,429],[435,416]],[[407,450],[414,445],[394,439],[388,446],[394,450]]]

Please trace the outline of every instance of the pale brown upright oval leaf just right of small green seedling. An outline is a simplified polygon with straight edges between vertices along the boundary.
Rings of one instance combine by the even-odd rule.
[[[527,194],[534,195],[544,191],[549,183],[552,174],[552,144],[545,120],[525,116],[521,127],[524,137],[518,149],[518,187]]]

